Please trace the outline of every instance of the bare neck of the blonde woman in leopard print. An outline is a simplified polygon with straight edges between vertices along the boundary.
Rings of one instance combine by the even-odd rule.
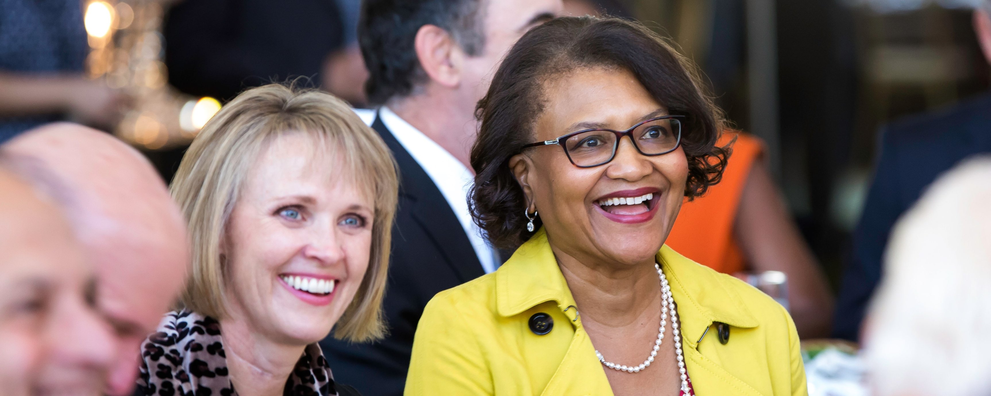
[[[252,327],[244,315],[220,321],[231,382],[240,396],[281,396],[305,346],[279,344]]]

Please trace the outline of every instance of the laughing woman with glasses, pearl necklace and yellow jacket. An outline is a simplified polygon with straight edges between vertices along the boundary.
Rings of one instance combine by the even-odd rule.
[[[683,56],[634,22],[556,19],[478,114],[474,216],[516,251],[430,301],[407,395],[806,394],[787,311],[664,246],[728,155]]]

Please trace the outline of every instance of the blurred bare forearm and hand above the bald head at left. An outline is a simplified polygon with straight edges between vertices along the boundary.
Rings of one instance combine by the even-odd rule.
[[[62,113],[109,131],[131,104],[123,91],[78,75],[0,72],[0,116]]]

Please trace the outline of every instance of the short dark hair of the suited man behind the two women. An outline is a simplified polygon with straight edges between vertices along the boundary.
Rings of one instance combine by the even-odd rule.
[[[358,24],[358,42],[369,69],[365,92],[369,103],[382,105],[407,96],[426,80],[413,41],[424,25],[451,35],[469,55],[485,47],[486,0],[365,0]]]

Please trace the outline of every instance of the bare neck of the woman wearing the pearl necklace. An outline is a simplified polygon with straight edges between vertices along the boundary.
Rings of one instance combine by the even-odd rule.
[[[652,260],[617,265],[551,248],[583,322],[624,327],[641,321],[647,310],[660,307],[660,280]]]

